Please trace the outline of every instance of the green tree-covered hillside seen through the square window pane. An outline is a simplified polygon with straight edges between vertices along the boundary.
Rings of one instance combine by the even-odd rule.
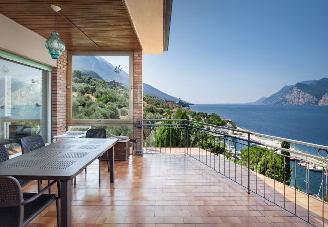
[[[127,87],[108,85],[106,81],[91,77],[84,71],[74,70],[72,91],[73,118],[128,119],[129,90]]]

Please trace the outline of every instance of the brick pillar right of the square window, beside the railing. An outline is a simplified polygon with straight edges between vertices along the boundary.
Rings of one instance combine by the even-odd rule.
[[[138,94],[139,84],[139,94]],[[139,95],[139,105],[136,105]],[[133,124],[139,124],[137,119],[143,119],[143,83],[142,83],[142,51],[133,51]],[[136,131],[133,127],[133,138],[138,140],[137,150],[141,150],[141,130]],[[135,148],[136,149],[136,148]]]

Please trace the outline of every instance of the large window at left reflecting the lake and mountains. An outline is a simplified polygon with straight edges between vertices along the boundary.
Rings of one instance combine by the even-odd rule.
[[[50,72],[13,59],[0,57],[0,144],[10,155],[21,151],[22,137],[40,134],[48,143],[51,136]]]

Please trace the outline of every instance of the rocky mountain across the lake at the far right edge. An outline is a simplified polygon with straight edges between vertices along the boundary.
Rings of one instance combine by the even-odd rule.
[[[284,86],[263,101],[273,105],[328,105],[328,78]]]

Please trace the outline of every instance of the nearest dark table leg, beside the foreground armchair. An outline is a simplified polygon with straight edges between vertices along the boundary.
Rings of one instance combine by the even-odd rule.
[[[71,181],[61,181],[61,226],[71,226],[72,186]]]

